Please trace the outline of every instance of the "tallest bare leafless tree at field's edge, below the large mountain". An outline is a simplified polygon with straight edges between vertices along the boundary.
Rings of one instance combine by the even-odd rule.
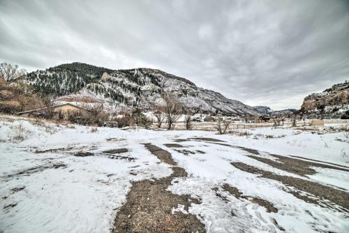
[[[168,123],[168,130],[171,130],[173,123],[181,116],[181,103],[170,93],[165,93],[163,99],[165,100],[163,110]]]

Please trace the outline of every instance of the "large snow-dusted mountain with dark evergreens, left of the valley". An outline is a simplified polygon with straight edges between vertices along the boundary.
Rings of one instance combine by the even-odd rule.
[[[191,112],[258,114],[260,109],[197,87],[183,77],[150,68],[111,70],[75,62],[37,70],[25,79],[42,97],[55,96],[57,102],[100,104],[111,111],[136,106],[151,110],[161,103],[165,91],[170,91]]]

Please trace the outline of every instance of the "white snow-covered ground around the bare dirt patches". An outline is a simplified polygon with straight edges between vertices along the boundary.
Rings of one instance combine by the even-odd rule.
[[[349,192],[349,172],[316,167],[316,174],[300,177],[254,160],[236,147],[256,149],[266,156],[299,156],[349,167],[347,135],[290,128],[247,131],[252,135],[121,130],[0,116],[0,232],[110,232],[132,181],[172,173],[169,165],[145,149],[144,143],[169,151],[188,172],[188,177],[176,178],[168,189],[202,201],[192,204],[188,211],[200,216],[207,232],[281,232],[274,220],[286,232],[348,232],[348,213],[299,200],[285,192],[282,183],[230,164],[242,162]],[[174,142],[193,137],[215,138],[231,146],[202,140]],[[168,148],[164,145],[167,143],[186,147]],[[121,148],[128,152],[117,158],[103,153]],[[181,153],[182,149],[192,153]],[[74,156],[78,152],[94,156]],[[271,202],[279,211],[268,213],[263,206],[230,195],[221,188],[224,183],[244,195]],[[172,213],[178,211],[185,212],[179,208]]]

